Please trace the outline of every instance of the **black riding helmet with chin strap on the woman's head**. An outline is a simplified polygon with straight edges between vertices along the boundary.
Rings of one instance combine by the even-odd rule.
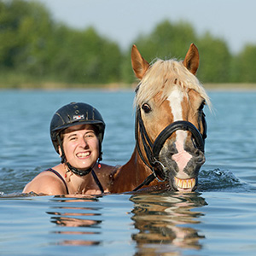
[[[89,104],[86,104],[83,102],[72,102],[70,104],[63,106],[59,110],[57,110],[50,122],[49,131],[50,131],[51,141],[58,154],[59,154],[59,146],[61,147],[62,162],[66,161],[66,157],[62,148],[60,134],[61,134],[61,131],[64,131],[68,127],[71,127],[74,125],[95,125],[96,126],[98,130],[97,136],[99,139],[99,149],[100,149],[99,160],[102,160],[102,140],[104,137],[105,123],[104,123],[104,120],[102,119],[101,113],[99,113],[96,110],[96,108],[93,108]],[[73,171],[76,174],[79,174],[80,176],[83,176],[91,171],[91,170],[88,170],[88,172],[85,173],[77,170],[76,168],[74,168],[73,166],[70,166],[69,164],[68,166],[71,169],[71,171]]]

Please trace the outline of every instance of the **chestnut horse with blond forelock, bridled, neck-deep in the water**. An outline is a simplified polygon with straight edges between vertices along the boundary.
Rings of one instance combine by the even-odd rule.
[[[140,79],[135,98],[137,145],[131,159],[113,174],[110,192],[148,185],[154,190],[195,190],[205,162],[203,107],[210,104],[195,77],[199,66],[195,44],[184,61],[157,60],[152,65],[133,45],[131,64]]]

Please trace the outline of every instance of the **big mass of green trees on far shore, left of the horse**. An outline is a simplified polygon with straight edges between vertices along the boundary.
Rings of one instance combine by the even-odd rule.
[[[38,2],[0,0],[2,73],[26,74],[36,81],[110,83],[120,79],[118,44],[89,27],[56,23]]]

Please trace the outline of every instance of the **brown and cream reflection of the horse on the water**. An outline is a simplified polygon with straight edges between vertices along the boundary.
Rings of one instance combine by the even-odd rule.
[[[191,224],[199,224],[201,212],[190,211],[207,205],[198,193],[151,193],[132,195],[132,220],[138,233],[136,255],[177,255],[177,248],[201,249],[198,231]],[[165,254],[167,253],[167,254]]]

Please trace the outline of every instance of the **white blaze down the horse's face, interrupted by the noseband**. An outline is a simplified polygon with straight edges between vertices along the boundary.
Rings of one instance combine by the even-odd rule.
[[[173,122],[178,120],[183,120],[183,91],[179,86],[173,86],[173,90],[167,100],[170,102],[170,107],[172,109]],[[188,137],[187,131],[176,131],[176,142],[175,146],[177,149],[177,154],[172,155],[172,160],[177,163],[179,172],[177,173],[177,177],[181,179],[189,178],[188,174],[183,172],[184,168],[187,166],[189,160],[192,158],[192,155],[189,154],[184,149],[184,144]]]

